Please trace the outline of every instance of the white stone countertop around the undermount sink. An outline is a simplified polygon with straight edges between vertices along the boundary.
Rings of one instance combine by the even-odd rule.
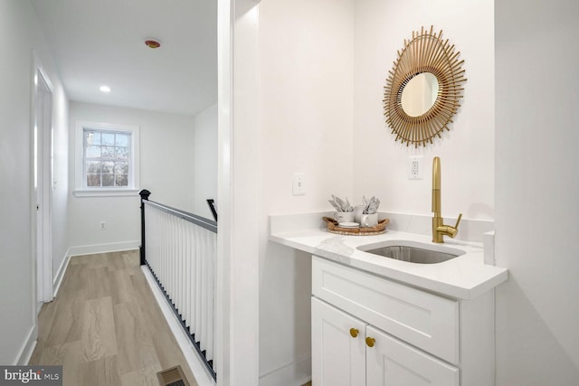
[[[386,231],[375,236],[342,236],[316,226],[296,231],[291,230],[296,223],[286,226],[272,218],[270,220],[272,241],[447,297],[472,299],[508,279],[507,268],[484,263],[480,243],[445,237],[444,244],[436,244],[430,236],[402,231]],[[301,221],[301,225],[306,224],[307,221]],[[379,248],[380,244],[392,241],[401,241],[406,245],[418,243],[426,249],[440,251],[459,249],[464,254],[441,263],[417,264],[384,258],[363,250]]]

